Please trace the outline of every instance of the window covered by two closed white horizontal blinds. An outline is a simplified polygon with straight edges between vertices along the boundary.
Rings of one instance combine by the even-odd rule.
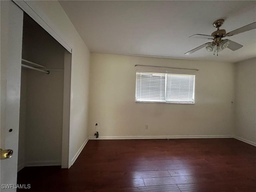
[[[136,102],[194,103],[194,75],[136,72]]]

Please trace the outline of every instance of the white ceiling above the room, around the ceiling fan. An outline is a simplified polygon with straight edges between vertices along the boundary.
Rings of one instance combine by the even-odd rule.
[[[229,37],[242,44],[214,56],[205,48],[185,52],[209,40],[212,23],[225,19],[230,32],[256,21],[256,1],[60,1],[91,52],[149,55],[196,60],[238,62],[256,57],[256,29]]]

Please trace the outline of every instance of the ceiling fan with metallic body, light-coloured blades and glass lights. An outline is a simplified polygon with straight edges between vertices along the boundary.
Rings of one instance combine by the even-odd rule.
[[[195,35],[190,36],[190,37],[194,37],[194,38],[211,39],[213,41],[202,44],[201,46],[194,48],[194,49],[190,50],[189,52],[186,52],[185,54],[190,55],[204,47],[209,52],[212,52],[212,51],[214,53],[217,52],[217,55],[218,55],[218,52],[224,50],[225,48],[229,48],[232,51],[238,50],[238,49],[242,48],[242,45],[240,45],[232,40],[222,39],[222,38],[224,38],[226,36],[228,36],[228,37],[233,36],[233,35],[236,35],[236,34],[239,34],[242,32],[246,32],[246,31],[256,28],[256,22],[254,22],[254,23],[248,24],[246,26],[243,26],[241,28],[238,28],[236,30],[226,33],[226,30],[220,29],[220,26],[222,26],[223,23],[224,23],[224,19],[216,20],[212,25],[214,27],[216,27],[217,30],[214,31],[211,35],[195,34]]]

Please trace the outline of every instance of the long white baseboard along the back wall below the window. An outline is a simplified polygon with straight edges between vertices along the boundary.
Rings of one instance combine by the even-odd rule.
[[[97,139],[185,139],[185,138],[233,138],[232,135],[175,135],[175,136],[100,136],[89,137],[90,140]]]

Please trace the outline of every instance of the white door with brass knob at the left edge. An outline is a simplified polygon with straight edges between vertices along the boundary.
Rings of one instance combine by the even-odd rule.
[[[23,11],[12,1],[0,1],[0,13],[0,147],[13,150],[10,159],[0,160],[0,191],[12,192],[13,186],[4,186],[17,182]]]

